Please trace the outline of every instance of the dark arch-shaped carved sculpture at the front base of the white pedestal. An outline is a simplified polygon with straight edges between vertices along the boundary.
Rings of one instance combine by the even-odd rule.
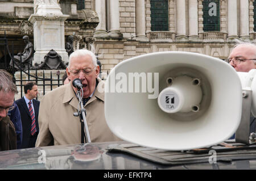
[[[61,70],[67,68],[67,65],[64,64],[64,62],[61,59],[61,56],[55,52],[55,50],[51,49],[46,56],[44,56],[44,62],[42,64],[38,65],[35,64],[31,70]]]

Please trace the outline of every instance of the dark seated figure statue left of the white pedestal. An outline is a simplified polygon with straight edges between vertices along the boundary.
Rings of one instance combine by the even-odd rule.
[[[22,61],[22,65],[20,66],[24,71],[28,69],[28,64],[32,66],[32,60],[34,56],[34,46],[29,41],[28,36],[23,36],[23,41],[26,44],[24,51],[22,53],[18,53],[16,56],[14,56],[14,61],[16,64],[20,66],[20,59]],[[10,62],[10,66],[13,66],[13,60]],[[17,65],[14,64],[15,69],[19,69]]]

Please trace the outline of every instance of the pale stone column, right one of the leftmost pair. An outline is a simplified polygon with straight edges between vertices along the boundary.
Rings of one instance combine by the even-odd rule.
[[[119,21],[119,0],[110,0],[110,37],[122,37]]]

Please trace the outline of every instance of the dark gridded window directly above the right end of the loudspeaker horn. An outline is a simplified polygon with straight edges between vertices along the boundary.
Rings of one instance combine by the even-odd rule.
[[[204,32],[220,31],[220,1],[204,0],[203,13]]]

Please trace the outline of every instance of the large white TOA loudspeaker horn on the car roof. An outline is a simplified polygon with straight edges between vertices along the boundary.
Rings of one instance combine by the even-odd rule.
[[[144,54],[115,66],[105,87],[109,128],[141,146],[203,148],[228,140],[240,125],[241,81],[218,58],[190,52]],[[152,99],[152,90],[159,96]]]

